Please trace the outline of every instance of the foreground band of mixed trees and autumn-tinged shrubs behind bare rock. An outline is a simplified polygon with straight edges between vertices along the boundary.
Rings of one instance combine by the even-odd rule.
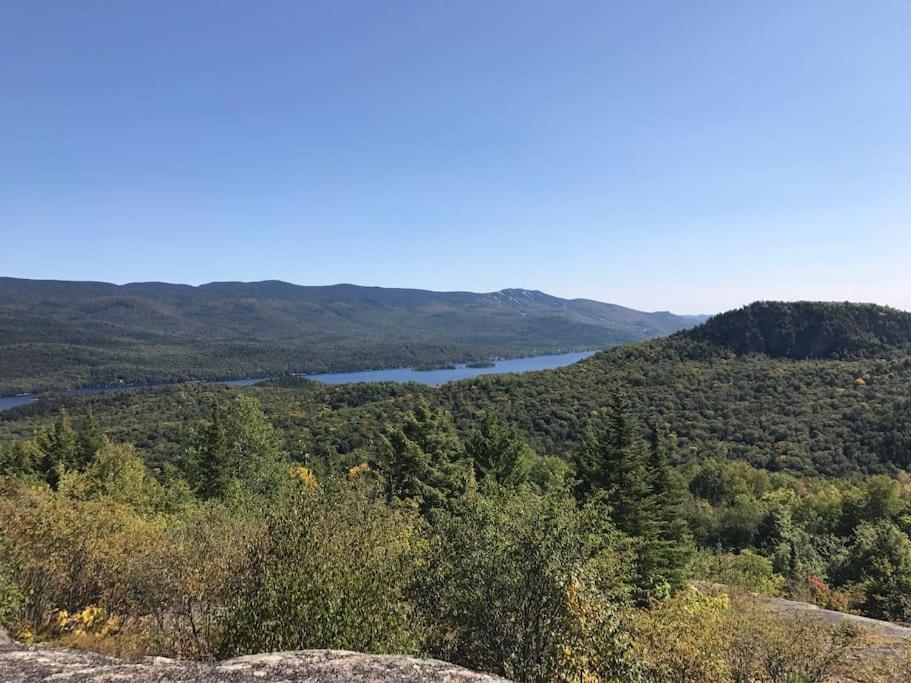
[[[901,481],[674,468],[665,436],[617,399],[566,460],[493,413],[460,439],[425,398],[352,465],[295,463],[245,395],[221,397],[183,445],[149,470],[66,412],[8,443],[0,624],[130,658],[335,648],[529,682],[911,671],[901,642],[740,591],[907,621]]]

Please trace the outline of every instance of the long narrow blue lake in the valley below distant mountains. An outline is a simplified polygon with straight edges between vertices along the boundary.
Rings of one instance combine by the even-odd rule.
[[[315,375],[301,375],[326,384],[350,384],[355,382],[419,382],[432,387],[455,382],[460,379],[479,377],[480,375],[501,375],[507,372],[532,372],[534,370],[550,370],[552,368],[572,365],[583,358],[588,358],[594,351],[577,351],[574,353],[559,353],[548,356],[531,356],[529,358],[512,358],[501,360],[489,368],[469,368],[457,365],[455,368],[443,370],[415,370],[414,368],[392,368],[389,370],[361,370],[358,372],[327,372]],[[213,384],[227,384],[235,387],[248,387],[259,382],[264,382],[268,377],[255,377],[247,379],[225,380],[212,382]],[[96,387],[88,389],[70,389],[62,392],[64,396],[86,396],[89,394],[109,394],[118,391],[129,391],[148,387],[118,386]],[[0,396],[0,412],[11,410],[17,406],[34,403],[36,396]]]

